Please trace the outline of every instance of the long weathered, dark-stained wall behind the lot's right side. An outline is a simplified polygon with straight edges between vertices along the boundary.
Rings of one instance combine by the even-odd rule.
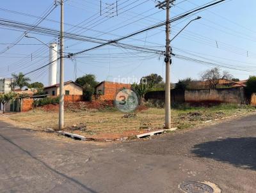
[[[244,88],[197,89],[185,91],[185,102],[246,104]]]

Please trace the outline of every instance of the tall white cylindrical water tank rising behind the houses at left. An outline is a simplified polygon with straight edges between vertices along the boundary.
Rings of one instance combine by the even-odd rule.
[[[49,47],[49,86],[52,86],[57,84],[58,44],[50,43]]]

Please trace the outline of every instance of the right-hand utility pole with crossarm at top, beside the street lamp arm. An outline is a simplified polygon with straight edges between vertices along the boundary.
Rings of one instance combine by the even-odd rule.
[[[166,63],[165,67],[165,128],[171,127],[171,77],[170,77],[170,65],[172,63],[171,59],[171,49],[170,49],[170,4],[175,0],[165,0],[156,5],[159,9],[166,8],[166,50],[164,61]]]

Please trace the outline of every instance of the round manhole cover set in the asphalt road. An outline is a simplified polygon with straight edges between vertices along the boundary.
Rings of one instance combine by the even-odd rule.
[[[180,184],[180,189],[186,193],[214,193],[212,187],[197,181],[185,181]]]

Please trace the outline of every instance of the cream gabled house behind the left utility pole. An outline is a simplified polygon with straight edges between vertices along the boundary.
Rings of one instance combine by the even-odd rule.
[[[60,84],[47,86],[44,88],[44,91],[49,96],[59,96]],[[64,93],[65,95],[83,95],[83,88],[74,81],[64,82]]]

